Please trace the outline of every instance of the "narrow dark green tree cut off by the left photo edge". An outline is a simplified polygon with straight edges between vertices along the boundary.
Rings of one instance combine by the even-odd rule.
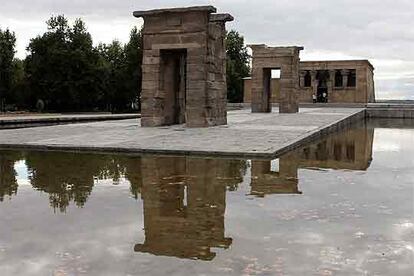
[[[15,54],[16,36],[9,29],[0,29],[0,111],[11,98],[13,79],[13,59]]]

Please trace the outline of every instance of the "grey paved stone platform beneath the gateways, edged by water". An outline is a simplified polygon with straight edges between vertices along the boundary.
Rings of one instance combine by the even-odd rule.
[[[1,148],[272,158],[365,118],[362,108],[228,112],[228,125],[142,128],[139,119],[0,130]]]

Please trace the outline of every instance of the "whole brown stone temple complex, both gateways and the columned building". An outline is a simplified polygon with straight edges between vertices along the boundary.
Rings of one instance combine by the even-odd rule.
[[[213,6],[135,11],[144,19],[141,126],[227,124],[225,24]],[[296,113],[299,103],[375,101],[374,67],[367,60],[301,61],[300,46],[252,49],[244,102],[252,112]],[[278,77],[273,73],[279,73]]]

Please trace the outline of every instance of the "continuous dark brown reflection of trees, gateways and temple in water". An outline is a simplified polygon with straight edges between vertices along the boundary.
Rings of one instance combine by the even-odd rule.
[[[99,180],[128,181],[132,196],[143,201],[145,239],[136,252],[212,260],[214,248],[232,244],[224,227],[226,192],[247,181],[258,197],[301,194],[301,168],[366,170],[373,136],[373,128],[353,128],[276,160],[0,151],[0,202],[18,193],[15,164],[21,160],[28,183],[61,212],[71,202],[84,206]]]

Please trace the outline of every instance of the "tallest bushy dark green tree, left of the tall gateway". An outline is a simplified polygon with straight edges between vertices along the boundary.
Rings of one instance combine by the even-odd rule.
[[[25,72],[32,105],[38,99],[48,110],[79,111],[97,107],[98,53],[85,23],[69,26],[63,15],[47,21],[48,31],[30,41]]]

